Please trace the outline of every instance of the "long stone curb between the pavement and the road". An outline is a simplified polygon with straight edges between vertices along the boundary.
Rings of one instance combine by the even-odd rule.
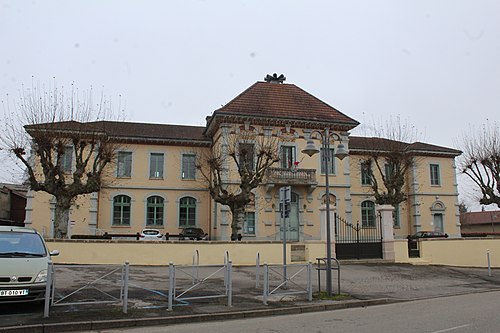
[[[409,300],[404,300],[409,301]],[[339,303],[327,304],[312,304],[291,306],[276,309],[257,309],[245,310],[235,312],[218,312],[210,314],[196,314],[196,315],[181,315],[174,317],[158,317],[152,324],[151,318],[139,319],[116,319],[116,320],[98,320],[98,321],[83,321],[83,322],[67,322],[67,323],[50,323],[50,324],[36,324],[36,325],[23,325],[23,326],[8,326],[0,327],[1,333],[56,333],[56,332],[69,332],[69,331],[98,331],[103,329],[114,329],[124,327],[147,327],[147,326],[168,326],[174,324],[206,322],[206,321],[223,321],[231,319],[244,319],[244,318],[258,318],[269,316],[281,316],[289,314],[300,314],[309,312],[321,312],[341,310],[348,308],[359,308],[373,305],[390,304],[403,302],[398,299],[373,299],[362,301],[347,301]]]

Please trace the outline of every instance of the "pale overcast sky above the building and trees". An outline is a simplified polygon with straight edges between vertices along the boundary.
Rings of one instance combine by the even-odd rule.
[[[0,0],[0,41],[11,103],[55,77],[121,96],[128,121],[204,125],[278,73],[362,124],[400,116],[441,146],[499,119],[498,0]]]

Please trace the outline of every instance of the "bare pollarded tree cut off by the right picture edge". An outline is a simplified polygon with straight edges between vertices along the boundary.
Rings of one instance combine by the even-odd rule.
[[[484,125],[480,131],[471,128],[460,146],[463,151],[460,171],[481,191],[477,198],[482,205],[500,207],[500,127],[498,123]]]

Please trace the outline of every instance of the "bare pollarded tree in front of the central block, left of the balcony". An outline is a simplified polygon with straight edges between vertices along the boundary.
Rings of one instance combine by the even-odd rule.
[[[262,183],[268,168],[277,161],[276,137],[239,132],[230,134],[223,145],[215,143],[210,153],[203,156],[197,165],[208,183],[211,197],[231,210],[232,240],[238,239],[245,208],[252,199],[251,191]],[[230,165],[234,165],[236,170]]]

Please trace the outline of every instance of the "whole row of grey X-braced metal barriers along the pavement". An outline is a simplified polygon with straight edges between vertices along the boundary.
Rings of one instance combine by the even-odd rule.
[[[51,307],[85,305],[121,305],[127,313],[129,302],[135,307],[173,310],[192,302],[223,299],[233,304],[233,265],[229,253],[222,265],[200,265],[195,251],[192,265],[148,267],[123,265],[48,265],[44,317]],[[255,281],[249,277],[252,267],[240,268],[243,278],[238,281],[245,295],[255,290],[254,296],[263,297],[268,304],[271,296],[306,295],[312,300],[312,264],[260,264],[257,253]],[[246,273],[245,273],[246,272]],[[64,278],[61,278],[64,276]],[[252,276],[252,273],[250,273]],[[245,280],[248,279],[248,280]],[[249,289],[245,287],[246,282]],[[262,281],[262,283],[261,283]],[[255,282],[255,287],[252,284]],[[251,290],[250,290],[251,289]]]

